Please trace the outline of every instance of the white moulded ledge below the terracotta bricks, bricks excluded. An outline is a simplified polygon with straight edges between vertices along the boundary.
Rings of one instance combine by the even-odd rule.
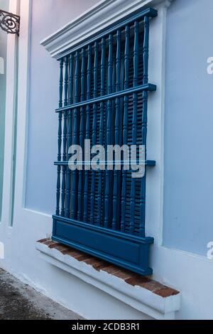
[[[36,249],[50,264],[77,276],[152,318],[174,319],[175,311],[180,309],[180,293],[163,298],[141,286],[131,286],[124,279],[119,279],[106,271],[97,271],[93,266],[79,262],[69,255],[63,255],[58,249],[50,249],[40,242],[36,242]]]

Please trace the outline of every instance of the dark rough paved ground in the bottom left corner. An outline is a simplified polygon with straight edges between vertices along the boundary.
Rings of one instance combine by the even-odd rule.
[[[0,269],[0,320],[81,319]]]

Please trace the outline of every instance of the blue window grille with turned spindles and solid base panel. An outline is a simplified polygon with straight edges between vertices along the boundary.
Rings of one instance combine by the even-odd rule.
[[[71,171],[72,144],[146,146],[148,35],[154,9],[134,14],[60,58],[58,181],[53,239],[148,275],[146,172]],[[146,153],[145,153],[146,154]],[[146,157],[145,157],[146,160]],[[154,165],[155,161],[146,161]],[[146,169],[146,167],[145,167]]]

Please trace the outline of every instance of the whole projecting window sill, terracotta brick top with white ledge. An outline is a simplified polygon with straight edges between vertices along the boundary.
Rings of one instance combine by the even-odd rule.
[[[180,292],[50,239],[36,242],[41,257],[157,319],[175,318]]]

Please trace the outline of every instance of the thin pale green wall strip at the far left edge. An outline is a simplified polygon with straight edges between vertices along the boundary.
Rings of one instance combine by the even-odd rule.
[[[0,9],[8,11],[9,1],[0,0]],[[6,46],[7,34],[0,29],[0,220],[2,206],[3,173],[4,173],[4,122],[6,102]]]

